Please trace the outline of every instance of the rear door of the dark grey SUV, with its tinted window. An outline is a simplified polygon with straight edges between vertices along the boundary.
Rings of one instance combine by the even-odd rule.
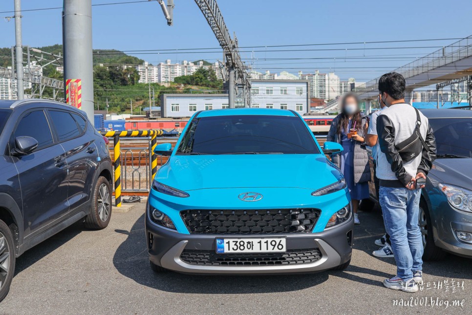
[[[68,200],[72,211],[90,199],[93,175],[98,167],[97,147],[86,133],[89,126],[84,117],[56,109],[47,112],[65,151],[69,171]]]

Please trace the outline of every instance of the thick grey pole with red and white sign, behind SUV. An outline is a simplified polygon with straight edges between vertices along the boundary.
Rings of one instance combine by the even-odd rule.
[[[93,121],[92,1],[64,0],[64,86],[80,79],[82,107]],[[67,87],[66,87],[67,89]],[[64,98],[65,90],[64,89]]]

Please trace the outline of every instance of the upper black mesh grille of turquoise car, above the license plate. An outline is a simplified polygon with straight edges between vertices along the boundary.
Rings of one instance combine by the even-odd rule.
[[[191,234],[274,234],[311,232],[318,209],[184,210]]]

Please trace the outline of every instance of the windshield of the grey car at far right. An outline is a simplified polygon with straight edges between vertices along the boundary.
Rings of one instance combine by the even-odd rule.
[[[472,158],[472,118],[429,118],[438,158]]]

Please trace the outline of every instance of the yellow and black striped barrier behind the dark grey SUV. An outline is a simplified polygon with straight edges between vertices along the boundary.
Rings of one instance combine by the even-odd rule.
[[[102,131],[101,135],[106,137],[113,137],[113,166],[115,169],[115,206],[121,207],[121,152],[120,152],[120,137],[151,137],[151,179],[154,178],[157,172],[157,154],[154,149],[157,145],[156,137],[163,135],[162,130],[128,130],[128,131]]]

